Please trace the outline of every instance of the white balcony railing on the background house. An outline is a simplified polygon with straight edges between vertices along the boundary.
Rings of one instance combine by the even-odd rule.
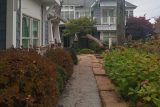
[[[108,24],[108,25],[111,25],[111,24],[116,24],[117,22],[117,17],[102,17],[101,18],[101,24]]]

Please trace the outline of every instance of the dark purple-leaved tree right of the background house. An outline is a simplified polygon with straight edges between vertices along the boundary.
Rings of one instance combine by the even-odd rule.
[[[126,23],[126,36],[133,40],[145,39],[153,33],[153,26],[145,17],[130,17]]]

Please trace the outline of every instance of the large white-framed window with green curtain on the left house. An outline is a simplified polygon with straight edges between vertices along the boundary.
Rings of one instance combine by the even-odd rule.
[[[39,46],[39,21],[23,16],[22,19],[22,46],[28,48],[30,46]]]

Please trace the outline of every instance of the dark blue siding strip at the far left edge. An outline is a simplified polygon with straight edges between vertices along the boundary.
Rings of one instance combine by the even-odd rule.
[[[6,48],[6,10],[7,1],[0,1],[0,49]]]

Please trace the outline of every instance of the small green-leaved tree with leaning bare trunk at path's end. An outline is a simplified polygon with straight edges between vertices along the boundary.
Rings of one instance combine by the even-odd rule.
[[[78,34],[81,37],[86,37],[92,41],[95,41],[99,45],[99,47],[104,48],[103,43],[91,35],[92,31],[96,30],[94,25],[95,21],[87,17],[72,19],[69,22],[65,23],[66,29],[64,30],[64,35],[74,36],[75,34]]]

